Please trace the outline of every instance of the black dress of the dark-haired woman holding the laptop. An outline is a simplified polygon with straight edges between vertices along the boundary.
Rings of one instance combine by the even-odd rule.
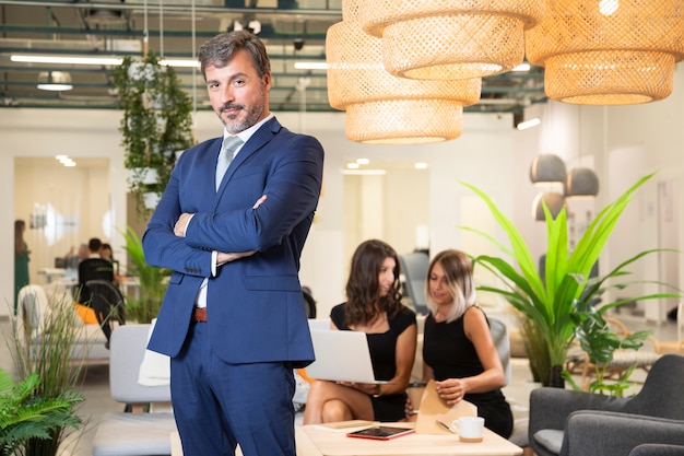
[[[351,330],[344,324],[344,303],[332,307],[330,319],[338,329]],[[408,327],[415,325],[415,313],[409,307],[403,307],[396,317],[389,318],[388,323],[389,331],[366,335],[373,373],[379,381],[388,381],[397,373],[397,338]],[[380,397],[370,396],[370,402],[373,404],[374,419],[377,421],[398,421],[405,418],[405,393]]]

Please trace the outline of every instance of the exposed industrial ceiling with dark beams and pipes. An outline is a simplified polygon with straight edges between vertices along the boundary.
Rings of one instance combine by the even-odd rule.
[[[258,21],[271,57],[274,112],[329,112],[325,70],[297,70],[295,61],[323,61],[328,27],[342,20],[342,0],[0,0],[0,107],[116,108],[111,67],[23,63],[12,55],[122,57],[149,49],[194,59],[197,48],[235,22]],[[146,24],[146,26],[145,26]],[[45,71],[68,71],[73,90],[37,89]],[[177,68],[198,109],[209,108],[201,73]],[[520,114],[546,101],[543,71],[508,72],[483,80],[480,103],[467,112]]]

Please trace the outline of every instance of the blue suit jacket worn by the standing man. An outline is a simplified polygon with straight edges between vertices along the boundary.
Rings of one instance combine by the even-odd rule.
[[[219,356],[307,365],[314,349],[298,270],[321,189],[322,147],[272,118],[243,145],[215,191],[221,142],[180,155],[143,235],[145,260],[174,271],[149,348],[178,354],[199,287],[210,278],[205,325]],[[262,195],[266,202],[251,209]],[[173,230],[184,212],[194,215],[181,238]],[[212,250],[259,252],[211,277]]]

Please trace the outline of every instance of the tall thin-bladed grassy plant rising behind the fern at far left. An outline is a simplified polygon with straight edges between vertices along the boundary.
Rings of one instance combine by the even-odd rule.
[[[36,302],[38,297],[36,296]],[[76,404],[80,402],[78,389],[82,381],[84,356],[75,353],[75,342],[85,337],[85,329],[73,307],[71,296],[54,294],[48,296],[47,308],[40,317],[38,330],[31,327],[20,330],[17,325],[26,325],[28,320],[17,319],[13,323],[13,347],[10,348],[17,378],[30,378],[36,375],[39,382],[32,385],[31,400],[36,402],[63,401],[71,407],[62,416],[64,421],[55,422],[46,430],[48,437],[36,436],[26,440],[15,454],[22,456],[56,455],[67,436],[82,424],[78,417]]]

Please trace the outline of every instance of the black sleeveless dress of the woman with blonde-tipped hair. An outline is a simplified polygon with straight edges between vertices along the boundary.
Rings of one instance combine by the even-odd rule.
[[[482,311],[477,308],[477,312]],[[437,323],[432,314],[427,315],[423,336],[423,361],[433,369],[436,381],[470,377],[484,372],[475,346],[463,330],[463,316],[451,323]],[[500,389],[467,394],[463,398],[477,406],[477,414],[484,418],[487,429],[504,439],[510,436],[512,412]]]

